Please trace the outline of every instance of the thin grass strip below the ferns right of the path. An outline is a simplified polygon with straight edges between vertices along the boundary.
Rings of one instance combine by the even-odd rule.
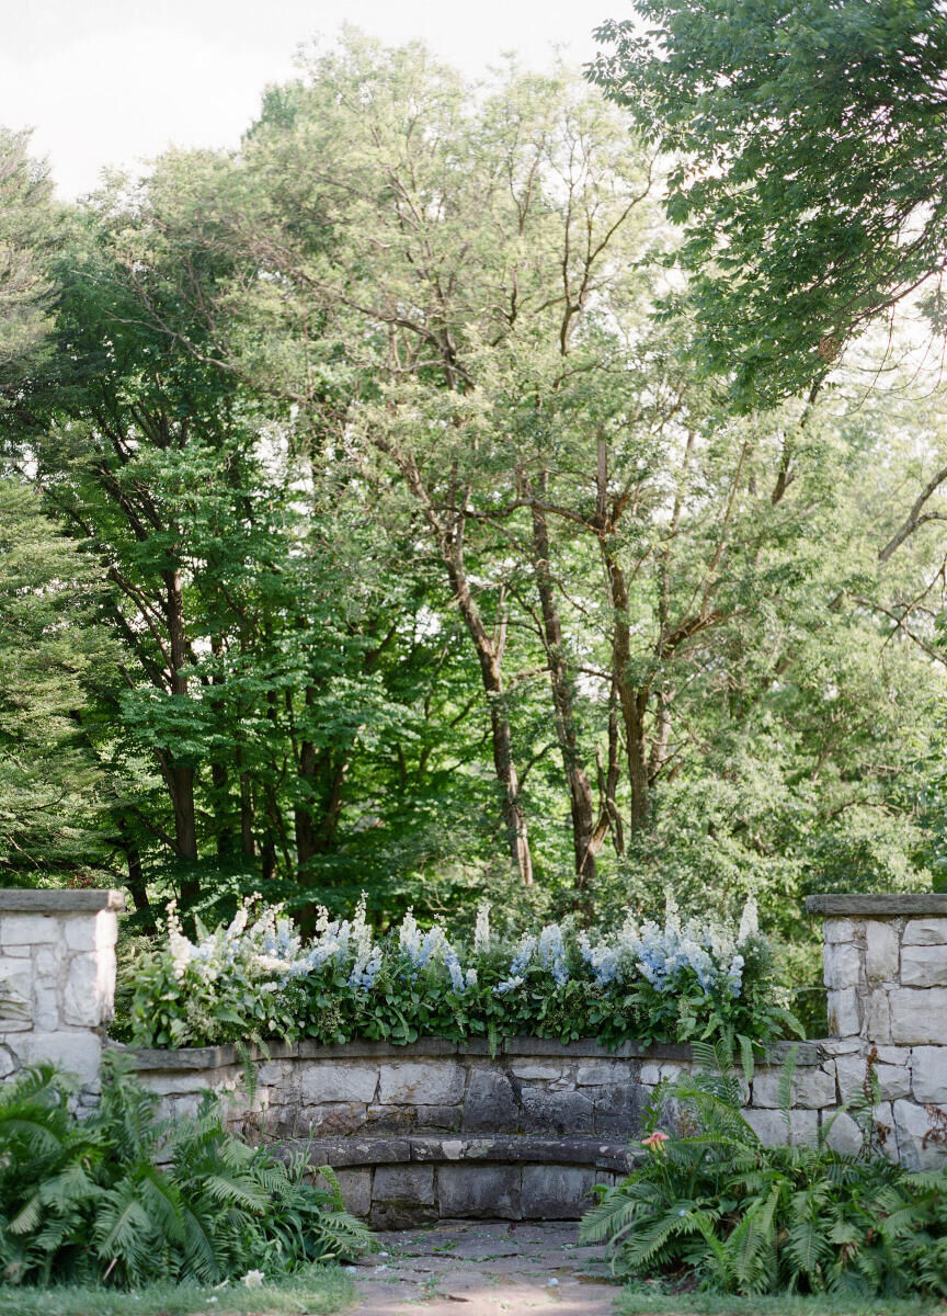
[[[718,1294],[668,1294],[650,1284],[625,1288],[616,1316],[939,1316],[936,1300],[894,1302],[880,1298],[726,1298]]]

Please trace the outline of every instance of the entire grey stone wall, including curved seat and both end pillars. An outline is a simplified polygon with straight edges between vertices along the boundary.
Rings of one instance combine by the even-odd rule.
[[[51,1059],[95,1098],[112,1012],[121,896],[0,892],[0,1078]],[[796,1050],[792,1108],[780,1108],[788,1048],[744,1084],[744,1115],[767,1144],[819,1129],[856,1152],[840,1109],[877,1084],[876,1141],[909,1169],[947,1159],[947,896],[812,896],[825,917],[831,1036]],[[247,1063],[230,1046],[135,1050],[167,1115],[212,1090],[254,1140],[306,1146],[337,1169],[350,1207],[400,1228],[445,1217],[571,1219],[592,1186],[627,1173],[658,1084],[688,1048],[595,1040],[422,1038],[412,1046],[272,1044]],[[250,1082],[247,1078],[250,1075]]]

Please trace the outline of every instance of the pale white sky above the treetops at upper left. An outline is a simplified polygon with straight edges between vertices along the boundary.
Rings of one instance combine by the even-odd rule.
[[[601,8],[600,8],[601,4]],[[0,125],[33,129],[57,190],[134,170],[166,146],[235,146],[267,83],[293,76],[313,38],[342,24],[397,43],[424,38],[470,76],[508,51],[542,68],[581,64],[622,0],[7,0]]]

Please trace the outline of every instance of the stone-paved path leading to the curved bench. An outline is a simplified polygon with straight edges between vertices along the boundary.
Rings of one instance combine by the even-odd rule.
[[[376,1234],[355,1274],[352,1316],[612,1316],[604,1248],[572,1221],[442,1220]]]

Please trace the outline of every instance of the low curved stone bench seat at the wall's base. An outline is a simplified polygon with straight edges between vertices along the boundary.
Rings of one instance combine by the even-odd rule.
[[[443,1219],[577,1220],[593,1187],[626,1175],[634,1152],[600,1138],[334,1137],[289,1141],[331,1166],[346,1207],[381,1229]]]

